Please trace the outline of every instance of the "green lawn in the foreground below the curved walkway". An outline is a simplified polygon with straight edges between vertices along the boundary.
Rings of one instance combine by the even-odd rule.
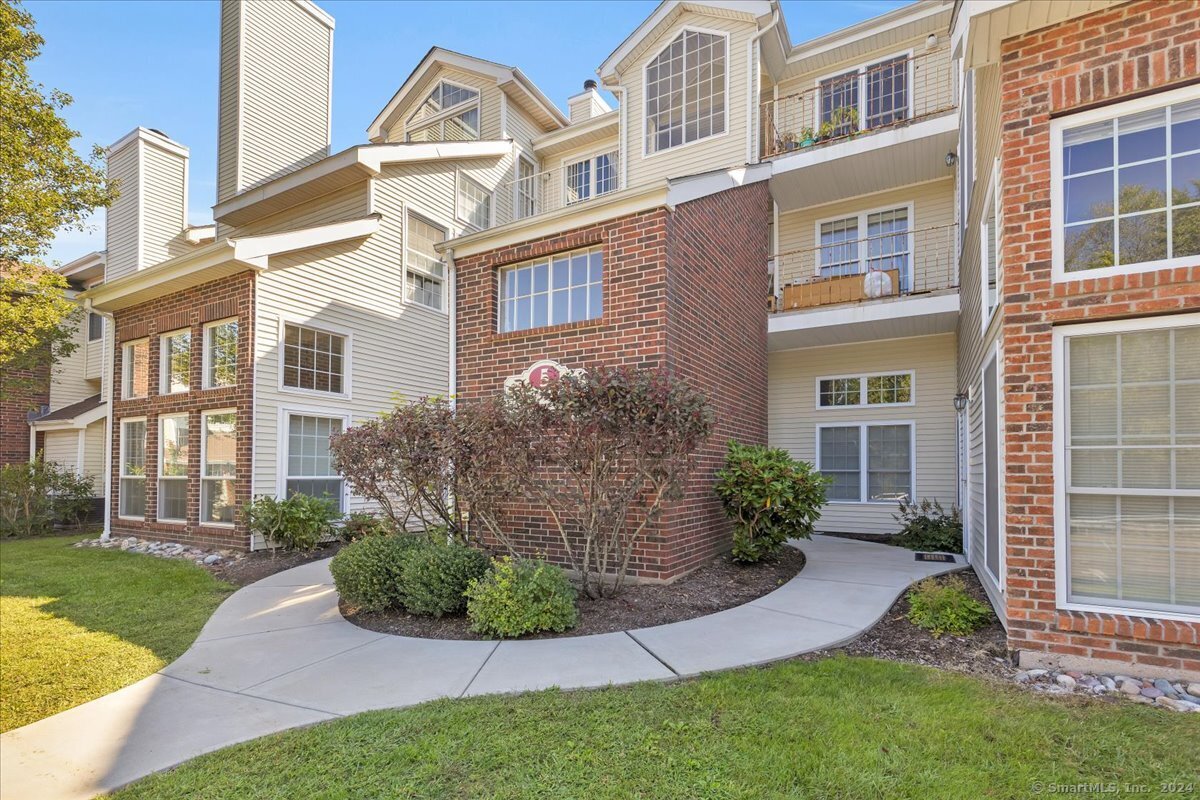
[[[203,756],[116,796],[961,800],[1027,798],[1037,782],[1157,793],[1198,763],[1192,715],[834,657],[374,711]]]

